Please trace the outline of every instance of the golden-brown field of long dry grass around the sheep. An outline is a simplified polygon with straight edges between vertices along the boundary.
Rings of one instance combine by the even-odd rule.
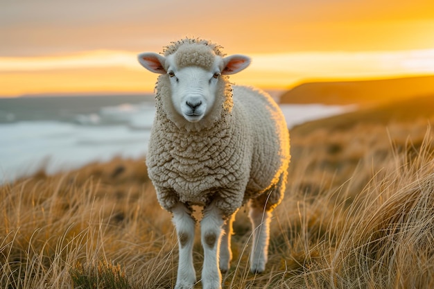
[[[266,272],[249,273],[243,207],[223,288],[434,288],[434,111],[420,101],[291,130]],[[40,171],[0,187],[0,213],[1,288],[175,285],[175,231],[143,159]]]

